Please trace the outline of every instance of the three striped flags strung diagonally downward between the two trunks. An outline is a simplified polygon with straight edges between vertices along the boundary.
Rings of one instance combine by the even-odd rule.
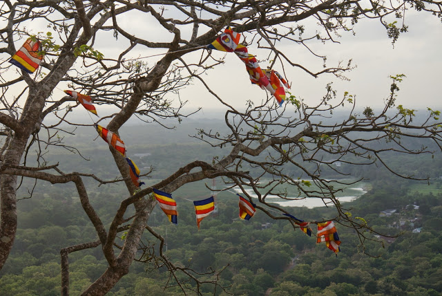
[[[81,93],[78,93],[77,91],[64,91],[66,94],[70,95],[70,97],[77,100],[87,111],[90,113],[93,113],[98,116],[97,109],[95,109],[95,106],[92,103],[92,98],[90,98],[89,95],[82,95]],[[95,124],[95,129],[97,130],[97,133],[102,139],[108,143],[108,145],[111,145],[115,148],[121,154],[125,159],[129,167],[129,174],[131,175],[131,180],[133,185],[136,187],[140,187],[144,184],[144,182],[140,181],[140,169],[138,169],[137,165],[131,160],[131,158],[128,158],[126,155],[126,146],[124,145],[124,142],[122,139],[119,138],[115,133],[112,131],[109,131],[108,129],[102,127],[99,124]]]

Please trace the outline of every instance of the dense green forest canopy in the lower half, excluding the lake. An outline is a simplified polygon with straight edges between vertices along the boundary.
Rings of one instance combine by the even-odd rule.
[[[185,149],[184,151],[189,151]],[[423,168],[423,167],[421,167]],[[386,175],[391,176],[391,175]],[[210,185],[210,184],[208,184]],[[50,189],[49,189],[50,187]],[[90,191],[90,202],[109,223],[111,214],[124,197],[117,185],[102,185]],[[220,189],[220,188],[218,188]],[[79,200],[70,185],[49,183],[37,187],[34,196],[19,201],[17,241],[10,264],[0,272],[0,295],[59,295],[59,250],[66,244],[95,239]],[[395,178],[372,181],[372,190],[345,204],[377,231],[387,235],[385,248],[366,244],[358,252],[358,240],[351,229],[337,225],[341,252],[336,257],[314,237],[294,231],[285,220],[272,220],[257,212],[249,221],[238,218],[238,199],[229,192],[217,196],[218,212],[202,221],[198,230],[193,205],[182,197],[198,199],[209,194],[202,183],[188,184],[174,192],[179,223],[171,225],[159,207],[149,220],[151,227],[166,239],[167,255],[180,266],[197,272],[221,270],[221,284],[234,295],[319,296],[319,295],[440,295],[442,293],[442,183],[432,185]],[[123,194],[123,195],[121,195]],[[411,207],[410,205],[418,205]],[[379,216],[394,209],[392,216]],[[291,207],[287,210],[307,221],[330,218],[333,209]],[[420,228],[419,233],[413,233]],[[86,231],[84,231],[86,230]],[[316,230],[314,230],[314,233]],[[119,241],[122,241],[120,239]],[[155,239],[145,235],[146,246]],[[157,251],[158,245],[153,246]],[[70,257],[71,295],[79,295],[106,268],[97,249],[73,253]],[[177,295],[180,290],[166,286],[169,272],[164,268],[134,262],[131,273],[111,290],[111,296]],[[173,285],[173,281],[169,283]],[[204,286],[202,295],[222,295],[213,286]]]

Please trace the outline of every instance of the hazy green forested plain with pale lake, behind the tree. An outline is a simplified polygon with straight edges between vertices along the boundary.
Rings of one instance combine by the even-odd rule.
[[[121,132],[128,143],[128,154],[140,169],[153,167],[151,178],[142,177],[146,186],[193,158],[211,160],[213,149],[188,136],[200,124],[200,120],[190,120],[170,131],[134,125]],[[221,122],[215,120],[207,121],[204,128],[222,131]],[[64,160],[60,165],[66,172],[81,169],[100,178],[115,178],[116,168],[106,161],[110,152],[102,142],[94,141],[95,135],[93,127],[81,127],[75,136],[65,138],[66,144],[75,143],[89,160],[64,149],[50,148],[52,161]],[[222,149],[215,151],[222,157]],[[238,189],[220,191],[226,186],[218,178],[189,183],[173,192],[179,211],[178,225],[171,225],[159,207],[155,207],[149,224],[166,239],[166,254],[174,263],[198,272],[227,266],[220,273],[220,284],[230,286],[227,290],[235,295],[440,295],[442,158],[438,154],[434,158],[392,156],[388,160],[399,170],[413,167],[416,175],[430,176],[431,181],[405,180],[374,165],[363,169],[348,167],[351,175],[346,177],[347,181],[365,179],[348,187],[340,185],[343,191],[338,197],[346,202],[344,207],[378,232],[390,236],[401,234],[393,238],[367,234],[369,239],[381,241],[365,241],[363,248],[374,257],[362,254],[356,234],[339,224],[342,245],[341,252],[335,256],[323,244],[316,245],[314,237],[294,230],[287,220],[270,219],[258,210],[250,221],[240,221],[235,195]],[[345,169],[344,163],[340,165]],[[332,172],[327,175],[327,170],[324,174],[323,178],[336,178]],[[97,185],[93,180],[87,183],[90,201],[108,224],[110,221],[106,219],[111,219],[119,201],[126,198],[126,190],[123,185]],[[0,273],[1,295],[59,295],[59,250],[95,239],[92,225],[71,186],[39,181],[32,198],[28,198],[33,183],[28,180],[21,185],[18,196],[23,198],[18,203],[21,219],[9,264]],[[291,187],[277,187],[276,191],[285,192],[287,197],[303,197]],[[198,230],[191,201],[213,193],[218,211],[204,219]],[[318,201],[322,201],[310,203],[309,199],[285,201],[268,196],[267,202],[291,206],[286,207],[287,211],[305,221],[334,217],[333,207],[318,207],[321,205]],[[396,210],[394,214],[382,214],[392,209]],[[144,235],[143,243],[153,243],[155,250],[155,239]],[[95,249],[73,253],[69,260],[72,295],[78,295],[106,268],[101,252]],[[134,262],[131,273],[109,295],[180,293],[176,287],[163,291],[169,272],[152,267]],[[209,284],[203,290],[206,295],[226,295],[220,289],[214,291]]]

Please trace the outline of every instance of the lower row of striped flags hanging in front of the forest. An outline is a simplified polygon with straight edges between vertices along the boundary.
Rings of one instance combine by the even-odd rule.
[[[239,196],[239,216],[242,220],[249,220],[256,213],[256,205],[251,201],[247,200],[240,196],[240,194],[236,194]],[[166,214],[173,224],[177,224],[177,203],[172,198],[172,194],[162,192],[161,190],[153,188],[153,196],[158,201],[158,204],[161,207],[161,210]],[[196,224],[198,229],[200,229],[200,223],[202,219],[206,216],[209,216],[213,210],[215,210],[215,199],[213,196],[209,198],[202,199],[201,201],[193,201],[193,205],[195,206],[195,214],[196,214]],[[309,222],[305,222],[301,219],[296,218],[291,214],[284,213],[285,216],[294,220],[296,225],[300,226],[300,230],[311,237],[312,230],[309,227]],[[316,234],[317,243],[321,243],[325,241],[327,248],[334,251],[337,255],[340,251],[339,245],[339,237],[338,232],[336,232],[336,227],[334,226],[333,221],[327,221],[325,223],[318,223],[318,233]]]

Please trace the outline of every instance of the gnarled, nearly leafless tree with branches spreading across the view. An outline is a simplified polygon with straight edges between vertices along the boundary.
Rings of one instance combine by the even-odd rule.
[[[102,248],[108,263],[106,271],[86,290],[84,295],[103,295],[124,275],[135,259],[161,261],[169,268],[173,278],[175,272],[184,272],[193,279],[199,289],[200,284],[213,280],[200,280],[191,270],[173,265],[163,254],[164,239],[148,226],[148,218],[155,201],[148,198],[151,187],[138,190],[131,182],[126,160],[113,147],[110,147],[113,160],[122,178],[106,180],[88,172],[62,172],[50,160],[45,147],[64,147],[81,155],[76,147],[64,144],[59,131],[63,123],[75,127],[77,122],[68,120],[70,111],[79,106],[70,96],[58,98],[53,95],[56,88],[68,84],[70,89],[87,93],[97,105],[106,105],[116,110],[110,116],[106,128],[119,133],[120,128],[130,118],[138,117],[149,122],[159,122],[169,128],[168,118],[183,120],[185,102],[171,100],[169,95],[189,86],[195,81],[204,86],[220,104],[227,108],[225,122],[229,133],[218,133],[200,129],[198,137],[212,147],[224,147],[229,151],[222,158],[214,158],[213,163],[195,160],[164,178],[153,187],[165,192],[206,178],[222,177],[229,186],[239,186],[244,196],[251,198],[244,190],[249,186],[258,196],[258,210],[274,219],[287,219],[297,227],[294,220],[278,216],[274,211],[285,212],[281,207],[269,205],[269,194],[284,196],[276,185],[285,184],[297,187],[300,196],[322,198],[325,203],[336,207],[334,220],[341,225],[354,228],[361,242],[370,237],[365,235],[369,226],[356,219],[336,200],[336,182],[328,181],[321,175],[328,167],[337,174],[345,174],[334,165],[336,161],[348,164],[369,165],[375,162],[393,168],[384,161],[388,152],[402,154],[423,154],[430,150],[413,147],[410,138],[434,142],[440,148],[441,127],[437,122],[439,111],[428,109],[428,118],[421,123],[413,122],[414,110],[401,104],[396,106],[398,83],[403,75],[392,76],[390,98],[385,108],[379,112],[367,107],[358,113],[352,109],[341,123],[327,123],[321,118],[341,105],[354,106],[355,99],[345,93],[338,104],[332,104],[337,94],[327,85],[323,100],[311,107],[294,95],[287,95],[287,104],[278,109],[272,98],[262,103],[247,102],[244,110],[237,110],[212,91],[204,81],[204,75],[222,63],[222,55],[215,55],[204,49],[220,32],[231,26],[244,36],[244,45],[258,44],[260,50],[269,54],[271,68],[282,66],[298,67],[307,75],[332,74],[343,77],[352,69],[351,64],[325,67],[312,71],[290,59],[282,51],[280,44],[288,41],[309,47],[309,40],[335,41],[340,31],[353,30],[360,19],[377,19],[387,30],[392,41],[396,41],[407,26],[398,26],[406,9],[434,12],[441,17],[441,3],[436,1],[291,1],[291,0],[141,0],[141,1],[10,1],[0,4],[3,19],[0,28],[0,53],[8,58],[17,51],[29,37],[39,39],[43,45],[40,52],[44,62],[33,75],[8,63],[1,64],[1,223],[0,223],[0,268],[7,262],[17,230],[17,187],[21,178],[55,183],[73,183],[81,200],[81,206],[93,224],[96,241],[86,241],[77,246],[61,250],[62,293],[68,295],[68,254],[86,248]],[[155,39],[137,26],[123,26],[124,19],[142,14],[143,25],[155,26],[162,33]],[[318,28],[312,35],[305,32],[309,19],[316,19]],[[304,23],[307,22],[307,23]],[[41,29],[44,28],[44,29]],[[46,30],[46,33],[39,32]],[[111,37],[111,33],[113,37]],[[117,39],[117,53],[104,51],[99,41]],[[102,49],[103,48],[103,49]],[[155,62],[148,64],[137,58],[137,49],[149,55]],[[160,50],[160,51],[158,51]],[[313,52],[313,51],[312,51]],[[195,58],[198,53],[199,58]],[[325,61],[325,57],[320,56]],[[245,72],[244,72],[245,73]],[[265,98],[265,96],[263,96]],[[394,111],[394,112],[392,112]],[[50,116],[58,118],[55,124],[49,123]],[[68,130],[69,133],[75,131]],[[386,141],[387,145],[377,145]],[[36,150],[35,157],[30,151]],[[34,159],[30,159],[34,157]],[[29,165],[35,163],[35,165]],[[285,168],[294,167],[287,170]],[[75,168],[73,169],[75,171]],[[260,183],[262,177],[268,183]],[[405,178],[416,176],[402,175]],[[19,179],[20,178],[20,179]],[[102,218],[90,204],[84,180],[95,179],[100,185],[124,182],[128,197],[124,198],[115,212],[108,229]],[[311,181],[302,181],[309,178]],[[314,185],[314,186],[311,186]],[[264,193],[263,193],[264,192]],[[124,214],[133,205],[135,215],[129,219]],[[273,208],[273,212],[269,209]],[[332,217],[330,217],[332,219]],[[311,221],[313,223],[319,221]],[[147,225],[147,226],[146,226]],[[144,230],[160,240],[160,255],[148,256],[151,248],[140,248]],[[125,234],[124,244],[118,246],[118,234]],[[117,245],[117,248],[114,246]],[[141,252],[141,255],[140,255]],[[146,255],[146,256],[143,256]],[[181,286],[184,289],[184,286]]]

